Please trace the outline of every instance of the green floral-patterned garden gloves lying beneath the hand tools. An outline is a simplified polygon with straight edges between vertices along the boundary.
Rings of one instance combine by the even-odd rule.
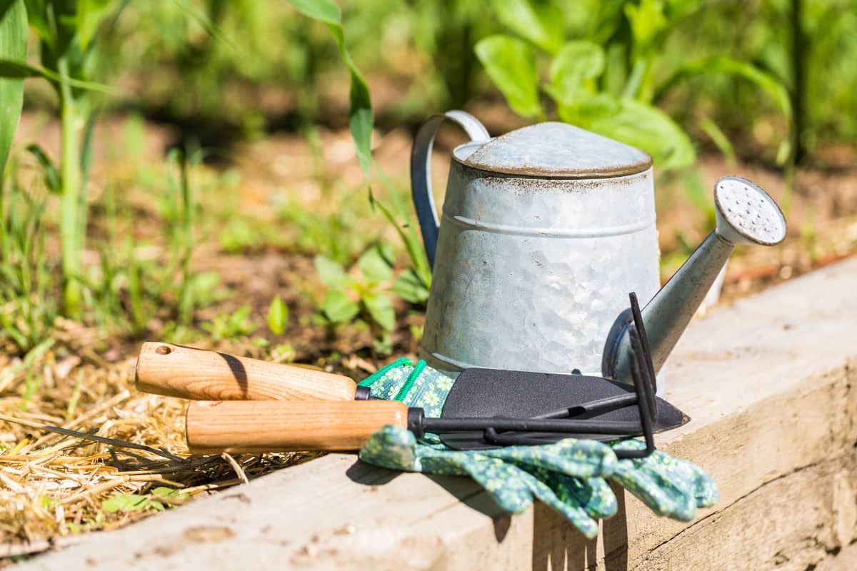
[[[409,407],[422,407],[426,416],[439,417],[453,383],[423,361],[414,366],[410,360],[399,360],[361,384],[371,386],[374,396],[404,401]],[[610,445],[644,448],[638,440]],[[597,533],[597,518],[616,510],[604,478],[626,488],[656,514],[677,520],[691,520],[697,508],[717,501],[716,485],[691,462],[661,451],[643,459],[617,460],[608,445],[573,438],[542,446],[458,451],[432,434],[417,443],[411,432],[387,426],[366,443],[360,457],[397,470],[468,475],[511,513],[538,497],[587,537]]]

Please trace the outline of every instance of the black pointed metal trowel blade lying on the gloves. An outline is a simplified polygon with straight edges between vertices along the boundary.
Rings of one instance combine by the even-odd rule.
[[[608,412],[586,412],[578,405],[605,398],[634,395],[634,387],[602,377],[576,374],[504,371],[498,369],[467,369],[458,375],[440,418],[505,417],[528,419],[554,413],[563,407],[570,409],[568,419],[598,419],[640,422],[638,407],[631,402],[626,407]],[[630,397],[629,397],[630,398]],[[657,415],[654,431],[662,432],[686,424],[690,418],[662,398],[656,397]],[[544,443],[562,438],[616,440],[615,434],[542,433],[530,435]],[[490,449],[482,431],[441,434],[440,439],[454,449]]]

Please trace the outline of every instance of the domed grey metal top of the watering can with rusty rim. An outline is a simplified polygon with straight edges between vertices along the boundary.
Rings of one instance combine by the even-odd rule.
[[[567,123],[544,122],[489,140],[463,163],[509,175],[608,178],[647,170],[651,157]]]

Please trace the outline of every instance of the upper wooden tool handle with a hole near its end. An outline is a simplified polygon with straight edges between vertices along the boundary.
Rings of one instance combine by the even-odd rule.
[[[143,343],[135,384],[203,401],[353,401],[357,390],[342,375],[162,342]]]

